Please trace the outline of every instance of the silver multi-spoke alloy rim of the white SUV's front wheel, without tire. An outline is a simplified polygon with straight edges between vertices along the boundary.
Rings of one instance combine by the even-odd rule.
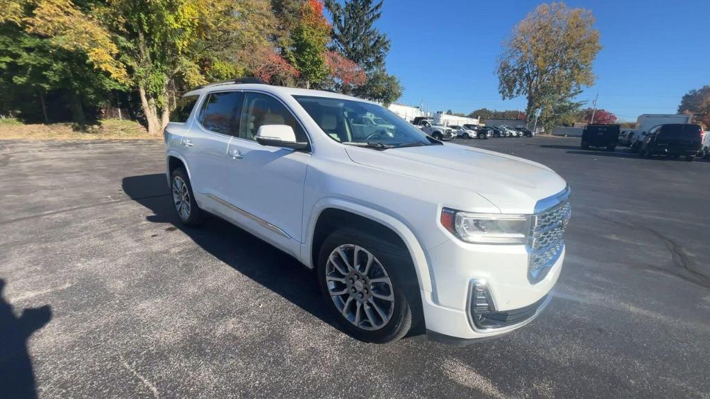
[[[325,280],[335,307],[356,327],[377,330],[392,318],[392,280],[365,248],[353,244],[335,248],[328,256]]]

